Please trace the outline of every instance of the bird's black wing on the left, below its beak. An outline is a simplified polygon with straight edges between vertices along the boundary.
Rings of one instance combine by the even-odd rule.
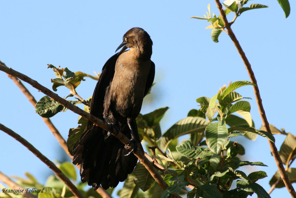
[[[91,99],[90,114],[98,118],[102,118],[104,111],[103,103],[105,98],[105,90],[113,79],[117,58],[118,55],[114,54],[110,59],[107,60],[102,69],[99,81],[96,83],[96,88],[94,89],[94,94]],[[87,128],[90,129],[92,124],[93,123],[89,121]]]

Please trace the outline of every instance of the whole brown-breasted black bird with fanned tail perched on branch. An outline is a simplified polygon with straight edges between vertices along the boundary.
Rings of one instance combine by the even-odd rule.
[[[110,125],[108,131],[88,121],[87,130],[72,149],[73,164],[81,165],[81,181],[96,190],[116,187],[125,181],[138,161],[132,153],[140,143],[136,117],[144,96],[152,86],[155,64],[151,61],[153,42],[142,28],[131,28],[123,42],[102,68],[91,99],[90,113]],[[129,50],[126,50],[128,49]],[[129,150],[109,131],[120,131],[129,139]]]

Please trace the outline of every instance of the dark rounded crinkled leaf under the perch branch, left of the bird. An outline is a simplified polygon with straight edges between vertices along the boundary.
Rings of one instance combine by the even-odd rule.
[[[50,99],[48,96],[42,97],[35,105],[35,111],[41,117],[52,117],[61,112],[64,107],[58,102]]]

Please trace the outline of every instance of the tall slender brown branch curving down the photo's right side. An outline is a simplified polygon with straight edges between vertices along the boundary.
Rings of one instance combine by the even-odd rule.
[[[240,46],[239,44],[239,41],[237,40],[237,38],[235,37],[230,25],[229,25],[229,22],[227,21],[227,18],[226,18],[226,15],[223,11],[223,8],[222,8],[222,5],[220,3],[219,0],[215,0],[216,4],[217,4],[217,7],[219,9],[219,12],[220,12],[220,15],[221,15],[221,18],[225,24],[225,27],[228,31],[228,35],[229,37],[231,38],[231,40],[233,41],[235,47],[237,48],[237,51],[239,52],[239,55],[240,57],[242,58],[243,62],[244,62],[244,65],[248,71],[248,74],[250,76],[250,79],[251,79],[251,82],[254,83],[256,86],[253,86],[253,89],[254,89],[254,93],[255,93],[255,97],[256,97],[256,102],[257,102],[257,105],[258,105],[258,110],[259,110],[259,114],[260,114],[260,117],[261,117],[261,120],[262,120],[262,125],[263,127],[265,128],[265,131],[267,131],[268,133],[271,133],[271,130],[270,130],[270,127],[269,127],[269,124],[268,124],[268,121],[267,121],[267,117],[266,117],[266,114],[265,114],[265,111],[263,109],[263,104],[262,104],[262,99],[261,99],[261,96],[260,96],[260,92],[259,92],[259,88],[258,88],[258,84],[257,84],[257,80],[255,78],[255,75],[254,75],[254,72],[251,68],[251,64],[249,62],[249,60],[247,59],[246,55],[244,54],[244,51],[242,49],[242,47]],[[269,141],[268,140],[268,143],[269,143],[269,146],[270,146],[270,150],[271,150],[271,153],[272,155],[274,156],[274,160],[276,162],[276,165],[279,169],[279,172],[281,174],[281,178],[283,179],[284,181],[284,184],[285,186],[287,187],[287,190],[289,191],[290,195],[292,197],[296,197],[296,192],[289,180],[289,177],[284,169],[284,166],[283,166],[283,162],[281,161],[281,158],[279,156],[279,153],[277,151],[277,148],[275,146],[275,144],[272,142],[272,141]]]

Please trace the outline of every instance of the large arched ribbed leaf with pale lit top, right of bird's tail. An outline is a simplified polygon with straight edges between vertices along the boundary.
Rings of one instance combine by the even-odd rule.
[[[203,117],[186,117],[178,121],[163,134],[160,139],[160,148],[166,151],[170,141],[188,133],[203,134],[208,123]]]

